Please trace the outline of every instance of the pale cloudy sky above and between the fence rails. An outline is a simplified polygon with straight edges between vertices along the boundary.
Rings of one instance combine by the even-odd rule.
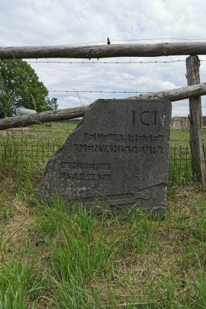
[[[206,0],[1,0],[0,45],[106,45],[117,43],[206,41]],[[181,39],[181,40],[180,40]],[[125,98],[132,91],[185,87],[185,58],[39,59],[28,60],[39,79],[58,98],[59,108],[89,104],[98,98]],[[199,56],[206,60],[206,56]],[[166,63],[101,63],[151,62]],[[36,63],[58,61],[60,63]],[[69,63],[69,62],[86,63]],[[67,63],[61,63],[67,62]],[[95,63],[93,63],[95,62]],[[201,82],[206,61],[201,62]],[[68,91],[68,92],[52,92]],[[74,91],[74,92],[71,92]],[[82,93],[78,91],[89,91]],[[98,93],[90,91],[121,91]],[[206,98],[202,97],[203,115]],[[172,103],[173,116],[187,116],[187,100]]]

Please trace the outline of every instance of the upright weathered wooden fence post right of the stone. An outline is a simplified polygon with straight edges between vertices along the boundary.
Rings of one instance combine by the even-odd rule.
[[[198,56],[189,56],[186,59],[188,86],[200,83]],[[190,147],[192,153],[192,175],[206,187],[206,162],[203,143],[203,120],[201,97],[189,99],[190,104]]]

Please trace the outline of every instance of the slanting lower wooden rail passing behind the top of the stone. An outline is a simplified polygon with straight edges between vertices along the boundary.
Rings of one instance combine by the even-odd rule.
[[[206,95],[206,82],[179,89],[148,93],[144,95],[140,94],[135,97],[130,97],[126,99],[168,99],[171,102],[174,102],[178,100],[192,98],[198,95]],[[58,111],[46,111],[43,113],[36,113],[34,115],[3,118],[0,120],[0,130],[17,128],[19,126],[30,126],[31,124],[38,124],[43,122],[74,119],[84,116],[88,109],[89,105],[86,105],[74,108],[64,108]]]

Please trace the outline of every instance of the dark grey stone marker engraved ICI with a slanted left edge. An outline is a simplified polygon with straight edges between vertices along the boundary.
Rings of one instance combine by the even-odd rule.
[[[47,163],[36,199],[101,211],[165,210],[171,103],[98,100]]]

